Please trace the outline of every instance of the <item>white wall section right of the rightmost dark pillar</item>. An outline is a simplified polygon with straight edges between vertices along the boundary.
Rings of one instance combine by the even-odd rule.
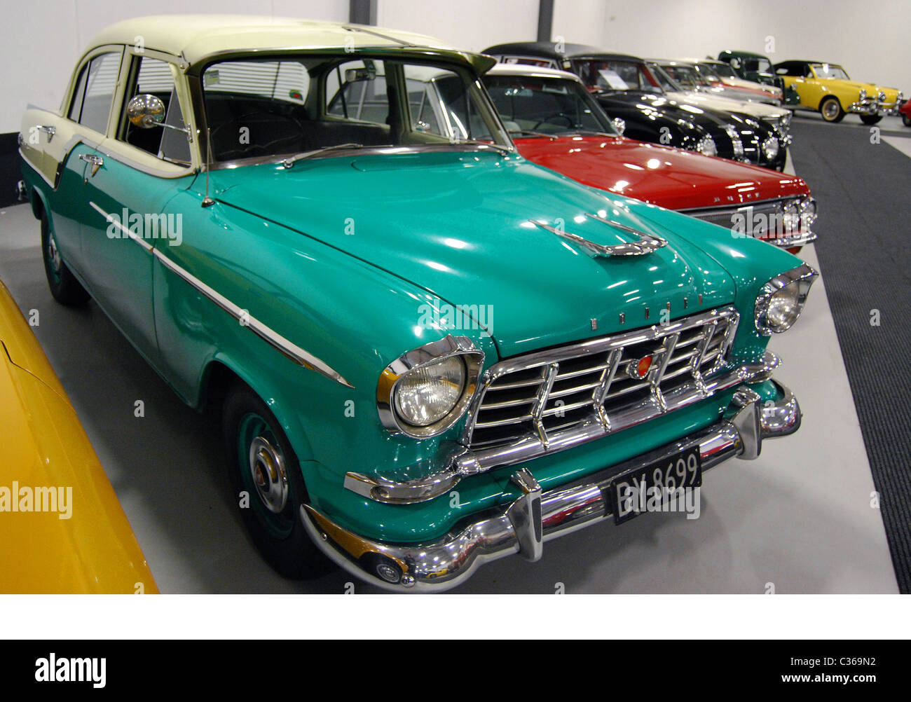
[[[841,64],[857,80],[911,94],[908,0],[556,0],[553,36],[636,56],[723,49]],[[772,37],[773,46],[767,46]]]

